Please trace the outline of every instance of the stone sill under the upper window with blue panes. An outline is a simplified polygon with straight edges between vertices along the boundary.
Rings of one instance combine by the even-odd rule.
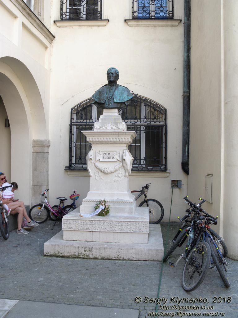
[[[178,26],[178,24],[182,20],[179,19],[168,19],[168,20],[160,20],[160,19],[125,19],[125,22],[129,26]]]

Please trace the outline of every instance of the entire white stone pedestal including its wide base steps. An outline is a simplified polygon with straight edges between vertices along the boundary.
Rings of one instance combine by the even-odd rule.
[[[86,157],[89,192],[80,208],[63,217],[63,233],[45,243],[44,254],[162,260],[160,225],[149,227],[149,208],[136,208],[129,189],[133,157],[128,147],[136,137],[135,131],[126,131],[117,109],[104,109],[94,131],[83,133],[92,145]],[[96,202],[103,199],[111,207],[107,216],[80,216],[94,212]]]

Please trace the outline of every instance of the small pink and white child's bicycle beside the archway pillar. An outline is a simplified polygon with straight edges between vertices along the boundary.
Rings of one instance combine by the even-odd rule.
[[[36,223],[46,222],[50,217],[50,212],[52,213],[52,215],[56,216],[56,218],[63,218],[64,215],[75,209],[74,206],[72,206],[71,204],[66,205],[63,208],[61,208],[60,205],[54,205],[53,207],[51,207],[47,201],[47,192],[49,190],[50,189],[46,189],[41,193],[41,197],[44,196],[44,200],[41,199],[40,204],[35,204],[30,208],[29,217]],[[67,200],[67,198],[65,199]]]

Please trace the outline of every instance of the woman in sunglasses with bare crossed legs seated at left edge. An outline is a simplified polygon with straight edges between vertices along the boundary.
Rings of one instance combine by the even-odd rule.
[[[0,188],[4,187],[4,183],[7,183],[6,177],[5,177],[3,172],[0,172]],[[0,193],[0,195],[1,195],[1,193]],[[17,216],[17,234],[29,234],[29,232],[22,229],[23,216],[27,220],[27,225],[34,226],[34,227],[39,225],[29,218],[29,216],[26,212],[25,205],[22,201],[13,202],[14,200],[12,198],[11,199],[3,199],[2,201],[3,201],[3,204],[7,204],[9,209],[11,209],[10,214],[18,213],[18,216]]]

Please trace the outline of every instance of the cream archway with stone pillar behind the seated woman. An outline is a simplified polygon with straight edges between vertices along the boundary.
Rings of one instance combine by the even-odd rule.
[[[18,183],[18,196],[31,204],[35,192],[38,199],[39,190],[48,186],[49,140],[41,93],[20,60],[0,58],[0,96],[11,129],[11,181]]]

